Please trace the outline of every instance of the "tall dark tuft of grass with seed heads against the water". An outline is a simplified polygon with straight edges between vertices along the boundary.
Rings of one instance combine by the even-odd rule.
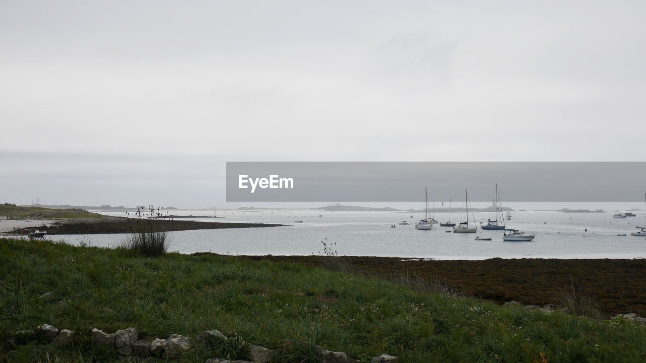
[[[128,217],[132,222],[132,231],[125,240],[122,247],[136,251],[142,256],[159,257],[166,254],[171,247],[172,235],[168,231],[161,230],[161,224],[156,220],[163,218],[160,208],[155,209],[149,205],[147,210],[137,209],[134,218]]]

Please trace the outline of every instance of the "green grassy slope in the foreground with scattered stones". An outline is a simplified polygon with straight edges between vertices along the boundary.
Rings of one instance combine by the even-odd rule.
[[[625,320],[500,307],[287,262],[151,259],[36,240],[0,239],[0,311],[3,339],[44,323],[78,333],[67,347],[0,347],[0,360],[11,362],[120,360],[94,347],[90,331],[130,326],[149,338],[218,329],[271,349],[290,339],[362,361],[381,353],[419,363],[646,361],[646,327]],[[224,355],[245,358],[244,351],[192,349],[177,360]],[[302,349],[278,361],[316,360]]]

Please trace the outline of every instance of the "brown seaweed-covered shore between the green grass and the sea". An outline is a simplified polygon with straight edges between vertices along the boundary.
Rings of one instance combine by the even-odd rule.
[[[318,256],[239,256],[251,260],[320,265]],[[555,304],[574,284],[590,295],[603,313],[646,316],[646,260],[521,258],[489,260],[420,260],[351,257],[353,267],[374,276],[408,275],[443,283],[464,295],[499,304]]]

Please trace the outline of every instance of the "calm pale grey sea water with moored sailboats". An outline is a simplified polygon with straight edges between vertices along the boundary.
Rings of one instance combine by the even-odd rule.
[[[174,214],[211,216],[213,210],[177,210]],[[105,213],[123,216],[125,213]],[[322,214],[322,216],[318,216]],[[503,231],[478,230],[477,234],[445,233],[450,228],[418,231],[416,213],[320,212],[303,209],[260,212],[218,211],[226,218],[194,218],[205,223],[280,223],[289,227],[213,229],[173,232],[172,250],[180,253],[213,252],[250,255],[309,255],[322,251],[321,241],[337,244],[339,254],[355,256],[399,256],[417,258],[646,258],[646,238],[630,236],[636,225],[646,225],[646,212],[636,217],[612,218],[608,213],[562,213],[556,211],[513,212],[508,227],[536,234],[533,242],[503,242]],[[474,213],[476,222],[494,218],[494,213]],[[452,214],[452,222],[464,220]],[[440,222],[448,213],[435,213]],[[294,223],[302,220],[303,223]],[[410,225],[397,224],[408,220]],[[587,232],[585,231],[587,229]],[[627,236],[617,236],[626,233]],[[50,236],[72,244],[119,245],[123,234]],[[492,237],[476,241],[475,236]]]

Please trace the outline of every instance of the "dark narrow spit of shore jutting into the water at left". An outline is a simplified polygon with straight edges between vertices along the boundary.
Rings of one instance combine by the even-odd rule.
[[[223,229],[223,228],[258,228],[258,227],[281,227],[281,224],[267,223],[224,223],[224,222],[197,222],[187,220],[151,220],[159,231],[191,231],[195,229]],[[101,218],[66,218],[57,220],[52,225],[36,227],[40,231],[47,231],[47,234],[102,234],[102,233],[132,233],[132,229],[138,223],[133,218],[124,217],[101,217]],[[34,228],[34,227],[32,227]],[[25,233],[23,229],[15,229],[10,234]]]

